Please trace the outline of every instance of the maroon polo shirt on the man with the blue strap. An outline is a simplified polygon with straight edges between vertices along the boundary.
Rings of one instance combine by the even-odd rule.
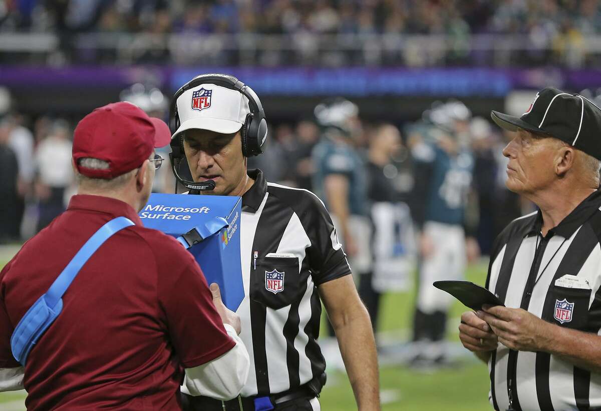
[[[10,336],[73,255],[105,222],[135,225],[107,240],[63,296],[29,353],[28,409],[177,410],[183,369],[236,344],[207,281],[177,240],[142,227],[125,202],[76,195],[0,272],[0,368],[19,367]]]

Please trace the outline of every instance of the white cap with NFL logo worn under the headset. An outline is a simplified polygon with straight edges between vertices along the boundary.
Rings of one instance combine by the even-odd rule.
[[[251,112],[248,98],[240,91],[216,84],[201,84],[177,98],[180,127],[171,136],[190,129],[235,133]]]

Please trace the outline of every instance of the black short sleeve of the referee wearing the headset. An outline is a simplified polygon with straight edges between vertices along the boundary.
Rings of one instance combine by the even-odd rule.
[[[308,255],[313,281],[319,285],[349,275],[350,266],[328,210],[316,196],[313,195],[313,198],[313,209],[310,210],[313,218],[309,230],[311,247]]]

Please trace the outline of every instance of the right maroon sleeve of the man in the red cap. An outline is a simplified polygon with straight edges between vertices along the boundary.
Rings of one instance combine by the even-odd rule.
[[[164,267],[159,271],[159,302],[166,315],[169,336],[185,368],[198,367],[231,350],[234,341],[225,331],[207,280],[188,252],[174,258],[185,261],[174,273]]]

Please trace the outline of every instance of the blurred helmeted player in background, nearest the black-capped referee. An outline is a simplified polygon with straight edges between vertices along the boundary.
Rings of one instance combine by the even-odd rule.
[[[469,150],[471,112],[453,100],[435,105],[413,127],[409,145],[415,165],[412,216],[418,230],[418,295],[413,318],[416,367],[445,362],[444,338],[452,297],[434,281],[462,279],[466,260],[478,254],[466,238],[466,205],[474,159]],[[467,258],[466,258],[467,257]]]

